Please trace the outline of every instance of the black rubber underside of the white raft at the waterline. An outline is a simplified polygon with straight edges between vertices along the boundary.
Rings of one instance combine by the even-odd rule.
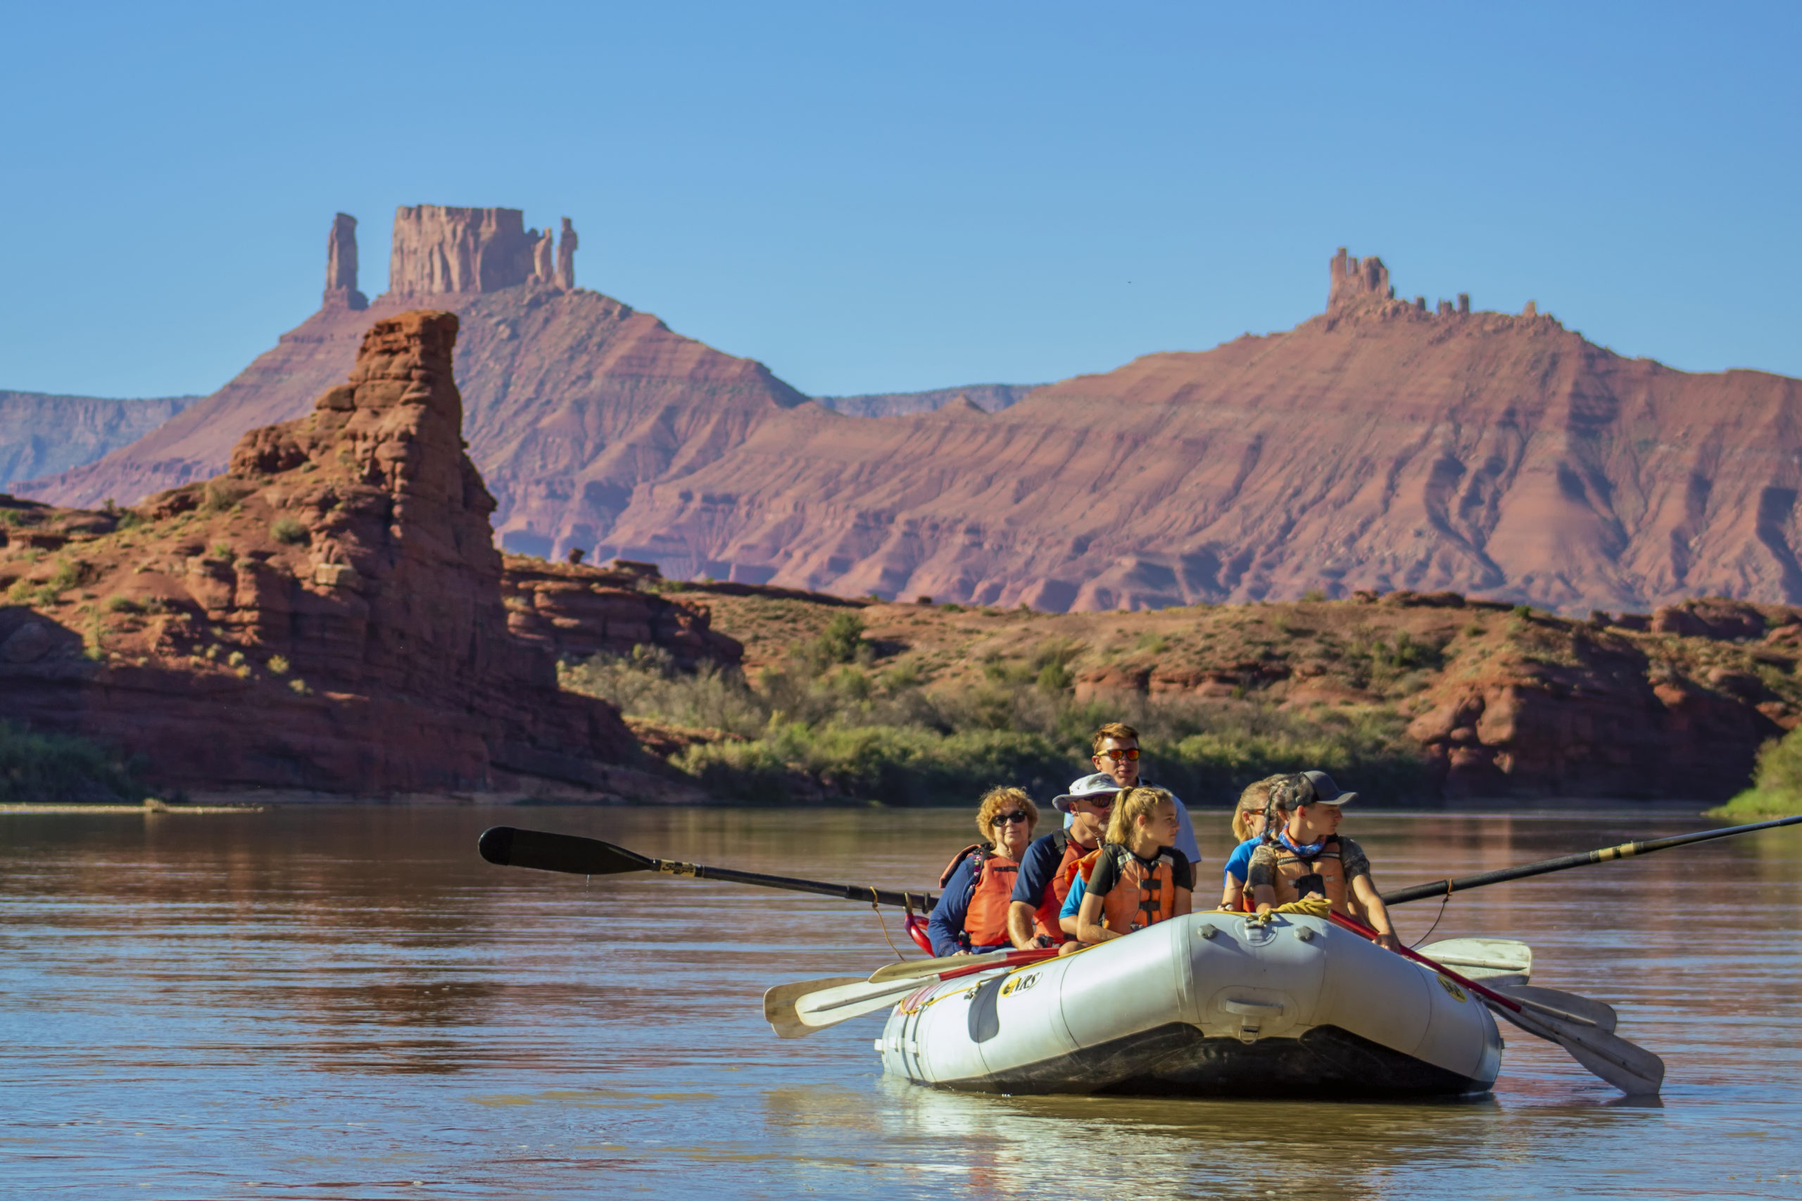
[[[975,1001],[969,1012],[975,1039]],[[1240,1043],[1204,1037],[1200,1030],[1180,1021],[1025,1068],[971,1080],[946,1080],[941,1086],[968,1093],[1362,1100],[1463,1097],[1487,1091],[1487,1086],[1470,1077],[1436,1068],[1337,1026],[1315,1026],[1299,1039]]]

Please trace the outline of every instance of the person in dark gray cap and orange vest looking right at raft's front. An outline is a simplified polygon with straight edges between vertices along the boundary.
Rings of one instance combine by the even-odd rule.
[[[1272,787],[1272,808],[1283,805],[1288,821],[1265,828],[1245,884],[1258,913],[1308,895],[1326,897],[1337,913],[1362,917],[1377,931],[1377,942],[1395,951],[1395,927],[1370,879],[1370,859],[1339,835],[1341,810],[1355,799],[1357,792],[1341,792],[1323,771],[1305,771]]]

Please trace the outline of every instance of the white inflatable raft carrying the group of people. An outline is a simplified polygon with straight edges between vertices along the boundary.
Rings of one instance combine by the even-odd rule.
[[[982,1093],[1445,1097],[1501,1070],[1483,1001],[1324,918],[1191,913],[905,998],[883,1068]]]

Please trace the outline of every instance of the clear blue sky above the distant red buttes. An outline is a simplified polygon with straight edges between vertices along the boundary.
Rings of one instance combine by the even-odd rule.
[[[1252,9],[1245,13],[1243,9]],[[1288,328],[1326,261],[1802,375],[1802,5],[13,4],[0,389],[207,393],[332,214],[582,234],[807,393]]]

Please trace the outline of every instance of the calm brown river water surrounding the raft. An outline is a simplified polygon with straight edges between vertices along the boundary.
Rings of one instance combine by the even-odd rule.
[[[1200,823],[1216,880],[1225,819]],[[1440,920],[1616,1005],[1669,1064],[1661,1102],[1503,1026],[1488,1097],[1234,1104],[939,1093],[881,1075],[881,1016],[780,1041],[766,987],[894,958],[869,908],[496,868],[488,825],[892,888],[975,832],[962,810],[0,816],[0,1196],[1802,1197],[1798,830]],[[1348,810],[1346,834],[1393,888],[1706,825]]]

